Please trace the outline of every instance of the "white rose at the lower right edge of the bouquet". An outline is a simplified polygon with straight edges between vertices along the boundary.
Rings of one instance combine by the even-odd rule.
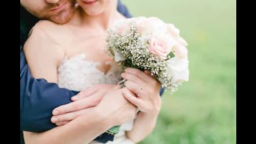
[[[174,83],[188,81],[188,59],[173,57],[169,59],[167,62],[167,71],[169,74],[171,74]]]

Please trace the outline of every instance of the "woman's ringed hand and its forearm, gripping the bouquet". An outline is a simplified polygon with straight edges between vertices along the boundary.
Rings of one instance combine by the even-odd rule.
[[[161,84],[148,73],[134,68],[125,69],[122,77],[127,80],[127,89],[137,93],[123,93],[124,97],[140,110],[132,130],[126,132],[127,138],[137,143],[154,130],[162,103],[159,95]]]

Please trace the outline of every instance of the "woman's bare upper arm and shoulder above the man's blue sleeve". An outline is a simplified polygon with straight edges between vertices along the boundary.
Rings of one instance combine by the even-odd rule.
[[[58,66],[65,57],[63,47],[43,29],[34,27],[24,45],[25,57],[31,74],[47,82],[58,82]]]

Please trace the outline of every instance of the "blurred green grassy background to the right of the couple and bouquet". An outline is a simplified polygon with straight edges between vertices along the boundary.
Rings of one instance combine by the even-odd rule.
[[[122,0],[134,17],[173,23],[188,42],[190,79],[165,92],[140,144],[236,143],[236,1]]]

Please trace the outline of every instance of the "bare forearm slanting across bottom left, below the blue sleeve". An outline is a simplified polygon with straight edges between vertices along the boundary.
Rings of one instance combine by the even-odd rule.
[[[55,127],[46,132],[24,132],[25,142],[34,143],[89,143],[107,131],[111,125],[94,108],[66,125]]]

